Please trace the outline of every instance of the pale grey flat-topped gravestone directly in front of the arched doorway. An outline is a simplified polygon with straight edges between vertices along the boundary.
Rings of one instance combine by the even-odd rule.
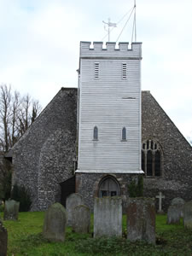
[[[94,237],[99,236],[122,236],[121,197],[95,198]]]

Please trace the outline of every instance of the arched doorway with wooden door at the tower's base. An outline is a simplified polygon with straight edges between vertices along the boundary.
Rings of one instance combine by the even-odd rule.
[[[120,195],[119,183],[116,178],[107,176],[99,183],[99,197]]]

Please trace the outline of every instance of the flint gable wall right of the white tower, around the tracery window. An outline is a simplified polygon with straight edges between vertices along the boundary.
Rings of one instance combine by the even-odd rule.
[[[143,91],[142,123],[143,141],[157,141],[162,148],[162,175],[144,178],[144,195],[161,191],[165,211],[174,197],[191,200],[192,148],[149,91]]]

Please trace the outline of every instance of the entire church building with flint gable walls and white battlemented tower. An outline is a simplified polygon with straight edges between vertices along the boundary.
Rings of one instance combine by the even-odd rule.
[[[191,200],[192,148],[149,91],[141,92],[142,44],[80,43],[79,88],[61,88],[12,148],[13,183],[32,195],[32,211],[77,192]]]

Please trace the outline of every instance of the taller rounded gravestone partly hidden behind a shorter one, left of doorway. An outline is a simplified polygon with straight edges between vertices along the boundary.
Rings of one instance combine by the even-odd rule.
[[[78,193],[73,193],[67,196],[66,200],[66,211],[67,211],[67,225],[72,226],[73,224],[73,208],[79,205],[84,205],[84,200]]]

